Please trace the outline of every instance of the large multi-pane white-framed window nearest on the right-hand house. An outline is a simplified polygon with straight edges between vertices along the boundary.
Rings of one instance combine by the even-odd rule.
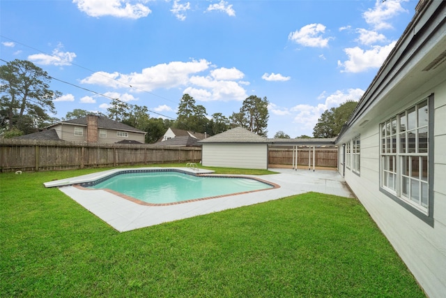
[[[380,124],[380,188],[424,215],[429,209],[429,101],[426,98]],[[417,214],[417,212],[414,212]]]

